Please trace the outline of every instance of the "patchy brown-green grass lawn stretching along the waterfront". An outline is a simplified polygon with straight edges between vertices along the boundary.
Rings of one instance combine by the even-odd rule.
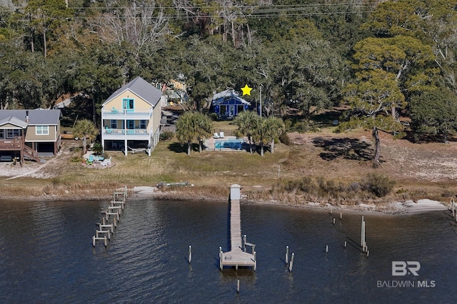
[[[216,132],[224,131],[229,135],[236,126],[232,121],[216,121],[214,128]],[[457,178],[457,170],[453,169],[457,168],[457,158],[453,157],[455,142],[418,145],[381,134],[381,168],[374,169],[371,167],[373,142],[369,131],[333,133],[331,123],[326,123],[317,132],[289,133],[289,138],[293,142],[291,146],[277,143],[275,152],[266,151],[263,157],[248,151],[199,153],[196,144],[188,156],[186,146],[172,139],[160,142],[151,157],[146,153],[124,156],[121,151],[108,151],[106,157],[111,156],[115,166],[105,169],[81,166],[81,150],[71,147],[81,142],[66,141],[66,152],[39,171],[45,178],[7,180],[1,177],[4,187],[0,195],[26,197],[45,193],[59,198],[71,198],[72,195],[106,197],[121,186],[133,188],[156,186],[160,181],[188,181],[194,187],[180,191],[194,191],[208,197],[226,193],[232,183],[238,183],[243,186],[244,193],[262,193],[256,197],[261,199],[270,195],[265,189],[274,188],[278,183],[311,178],[312,183],[323,183],[319,187],[347,188],[351,183],[361,183],[373,172],[396,181],[392,194],[383,198],[386,201],[446,200],[446,196],[457,191],[453,183]],[[324,200],[327,195],[324,193]],[[358,201],[366,199],[365,193],[356,198]]]

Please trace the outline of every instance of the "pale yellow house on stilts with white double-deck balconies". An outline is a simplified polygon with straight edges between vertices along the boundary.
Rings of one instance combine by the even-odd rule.
[[[101,105],[101,144],[106,151],[146,151],[159,143],[162,92],[141,77],[122,86]]]

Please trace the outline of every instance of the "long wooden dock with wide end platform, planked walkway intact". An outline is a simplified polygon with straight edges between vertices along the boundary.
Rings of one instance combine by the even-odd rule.
[[[255,245],[246,243],[246,238],[241,237],[241,212],[240,212],[241,186],[233,184],[230,188],[230,251],[222,252],[219,248],[219,268],[224,266],[257,268]],[[246,252],[246,245],[251,246],[252,253]]]

